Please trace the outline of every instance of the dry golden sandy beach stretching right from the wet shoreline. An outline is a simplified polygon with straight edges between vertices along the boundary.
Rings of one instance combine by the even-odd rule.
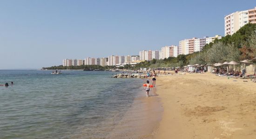
[[[243,82],[248,81],[248,82]],[[256,83],[210,73],[159,76],[154,139],[256,139]]]

